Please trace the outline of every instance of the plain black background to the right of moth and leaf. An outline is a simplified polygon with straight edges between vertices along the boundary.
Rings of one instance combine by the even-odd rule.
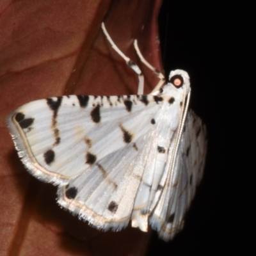
[[[154,232],[147,255],[255,255],[255,4],[163,1],[164,69],[189,73],[209,145],[184,230],[169,243]]]

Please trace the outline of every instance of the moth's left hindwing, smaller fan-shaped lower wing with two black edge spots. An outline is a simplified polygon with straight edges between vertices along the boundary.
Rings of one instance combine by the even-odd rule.
[[[97,159],[90,169],[70,180],[68,186],[59,188],[58,203],[97,228],[120,230],[126,227],[148,165],[149,152],[157,151],[157,147],[148,147],[147,142],[152,145],[157,141],[147,132],[135,141],[136,148],[133,143],[118,148]]]

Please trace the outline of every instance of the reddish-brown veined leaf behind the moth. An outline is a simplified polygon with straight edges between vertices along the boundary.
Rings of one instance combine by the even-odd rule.
[[[20,162],[6,116],[26,102],[68,94],[136,93],[138,77],[111,48],[100,24],[140,65],[133,48],[161,69],[160,0],[27,0],[0,3],[1,255],[144,255],[148,233],[100,232],[56,204],[56,187]],[[141,65],[140,65],[141,66]],[[145,92],[157,83],[141,66]]]

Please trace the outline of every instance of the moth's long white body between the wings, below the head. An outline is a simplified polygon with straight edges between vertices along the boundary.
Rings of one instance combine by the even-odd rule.
[[[162,95],[165,98],[165,95]],[[148,154],[148,167],[143,173],[140,188],[136,195],[134,210],[132,212],[132,227],[140,227],[141,230],[147,231],[148,216],[154,210],[163,186],[166,183],[174,144],[177,137],[177,130],[180,119],[180,100],[176,95],[168,95],[167,100],[161,106],[161,111],[157,113],[156,134],[157,137],[157,155],[155,150]],[[173,100],[175,97],[175,100]],[[153,147],[152,147],[153,148]]]

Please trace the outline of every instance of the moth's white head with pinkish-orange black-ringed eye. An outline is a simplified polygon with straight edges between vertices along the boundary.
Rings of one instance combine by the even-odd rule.
[[[168,84],[172,84],[175,88],[186,90],[186,94],[190,92],[190,82],[188,73],[181,69],[172,70],[168,79]]]

